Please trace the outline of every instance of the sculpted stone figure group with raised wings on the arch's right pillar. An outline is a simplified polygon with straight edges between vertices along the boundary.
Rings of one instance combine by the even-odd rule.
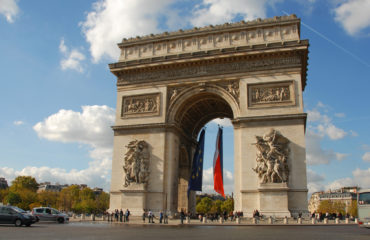
[[[289,140],[271,129],[263,137],[256,136],[257,166],[252,168],[261,183],[287,182],[289,177]]]

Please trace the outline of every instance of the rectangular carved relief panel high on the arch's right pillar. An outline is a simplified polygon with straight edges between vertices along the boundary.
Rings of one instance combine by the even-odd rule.
[[[248,95],[249,107],[295,104],[293,81],[249,85]]]

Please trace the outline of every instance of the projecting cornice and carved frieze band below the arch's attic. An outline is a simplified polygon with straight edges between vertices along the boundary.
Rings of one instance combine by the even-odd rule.
[[[110,64],[117,76],[117,86],[145,83],[166,83],[198,77],[218,75],[243,75],[246,72],[284,70],[299,68],[302,90],[306,86],[308,41],[285,44],[264,44],[261,49],[237,47],[231,49],[202,51],[132,62]]]

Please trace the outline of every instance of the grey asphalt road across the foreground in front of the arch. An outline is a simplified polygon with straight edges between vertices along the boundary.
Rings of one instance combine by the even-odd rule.
[[[37,223],[31,227],[0,225],[0,239],[243,239],[243,240],[362,240],[370,239],[370,229],[357,225],[340,226],[202,226],[140,225],[107,222]]]

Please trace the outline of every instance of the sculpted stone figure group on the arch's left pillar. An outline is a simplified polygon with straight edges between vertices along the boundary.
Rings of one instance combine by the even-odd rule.
[[[126,173],[124,186],[127,187],[133,182],[146,183],[149,177],[150,160],[148,144],[143,140],[134,140],[126,148],[123,165]]]

